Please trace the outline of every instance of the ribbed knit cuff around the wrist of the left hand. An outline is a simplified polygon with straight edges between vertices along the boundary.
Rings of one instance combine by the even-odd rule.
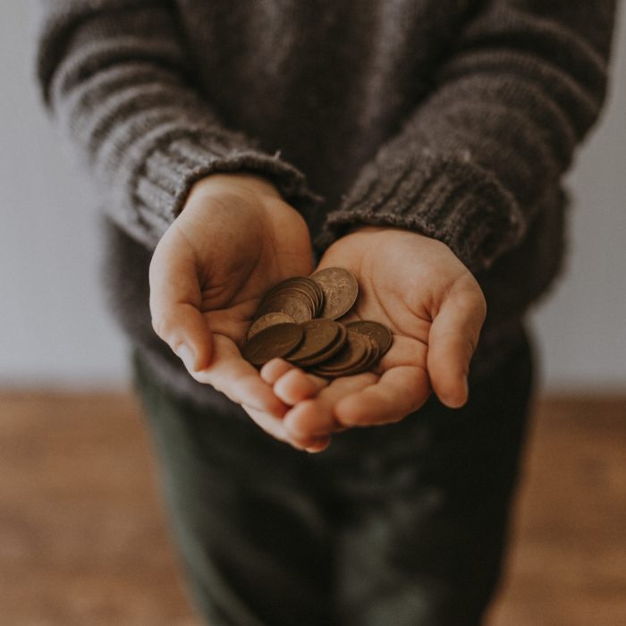
[[[240,136],[233,133],[233,137]],[[303,214],[324,201],[309,190],[300,170],[281,159],[280,152],[269,155],[250,147],[250,142],[227,145],[224,137],[201,132],[192,136],[173,133],[159,138],[130,181],[135,190],[138,220],[150,233],[150,241],[156,243],[172,224],[194,183],[216,172],[262,175],[275,184],[286,202]]]

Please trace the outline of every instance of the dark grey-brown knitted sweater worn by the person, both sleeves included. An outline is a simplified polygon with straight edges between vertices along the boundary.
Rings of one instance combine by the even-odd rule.
[[[561,266],[561,180],[605,98],[614,0],[40,0],[38,80],[96,182],[106,283],[168,385],[148,263],[191,185],[259,173],[320,254],[353,224],[444,241],[487,319],[472,368]]]

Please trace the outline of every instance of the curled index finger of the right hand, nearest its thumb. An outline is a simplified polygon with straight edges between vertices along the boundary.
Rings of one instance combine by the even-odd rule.
[[[346,427],[387,424],[418,410],[429,393],[424,368],[397,366],[388,369],[376,383],[346,395],[337,402],[334,415]]]

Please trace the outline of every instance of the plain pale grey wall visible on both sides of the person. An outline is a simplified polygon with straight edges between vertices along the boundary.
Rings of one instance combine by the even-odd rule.
[[[0,7],[0,386],[119,385],[97,216],[32,80],[28,3]],[[566,274],[533,316],[550,389],[626,389],[626,15],[605,116],[571,173]]]

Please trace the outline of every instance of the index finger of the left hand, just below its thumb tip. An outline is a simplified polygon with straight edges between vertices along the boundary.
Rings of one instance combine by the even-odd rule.
[[[214,355],[210,365],[191,374],[199,383],[212,385],[233,402],[282,417],[287,406],[281,402],[258,371],[241,357],[233,341],[221,334],[213,336]]]

